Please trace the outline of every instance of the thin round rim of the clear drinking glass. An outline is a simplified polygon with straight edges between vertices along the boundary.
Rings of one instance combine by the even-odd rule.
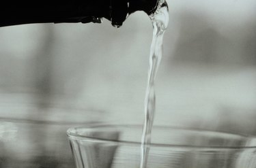
[[[79,135],[78,133],[74,133],[76,129],[83,129],[83,130],[92,130],[92,129],[97,129],[97,128],[141,128],[142,131],[142,125],[140,124],[97,124],[97,123],[92,123],[92,124],[87,124],[85,126],[81,127],[72,127],[66,131],[66,135],[68,138],[76,139],[76,140],[85,140],[85,141],[94,141],[94,142],[108,142],[111,144],[118,144],[118,145],[134,145],[134,146],[141,146],[141,141],[126,141],[126,140],[116,140],[116,139],[103,139],[103,138],[98,138],[98,137],[89,137],[86,135]],[[248,134],[242,134],[242,133],[231,133],[227,131],[213,131],[210,129],[198,129],[198,128],[188,128],[188,127],[173,127],[173,126],[165,126],[165,125],[156,125],[153,127],[156,129],[173,129],[173,130],[180,130],[180,131],[197,131],[199,132],[205,132],[205,133],[221,133],[225,135],[235,135],[239,136],[244,139],[255,139],[256,137],[253,135],[248,135]],[[142,132],[141,132],[142,133]],[[186,144],[158,144],[158,143],[152,143],[147,146],[150,147],[169,147],[169,148],[200,148],[200,149],[246,149],[246,148],[256,148],[255,145],[248,145],[248,146],[197,146],[197,145],[186,145]]]

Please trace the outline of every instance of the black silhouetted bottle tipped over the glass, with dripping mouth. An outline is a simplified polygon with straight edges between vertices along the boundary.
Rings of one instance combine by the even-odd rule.
[[[9,1],[0,7],[0,27],[46,22],[101,22],[120,27],[126,17],[142,10],[151,14],[158,0]]]

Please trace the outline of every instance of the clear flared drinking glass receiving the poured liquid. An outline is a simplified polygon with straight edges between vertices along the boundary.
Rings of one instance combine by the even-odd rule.
[[[68,129],[76,168],[139,168],[142,127]],[[147,168],[255,168],[255,139],[246,135],[153,127]]]

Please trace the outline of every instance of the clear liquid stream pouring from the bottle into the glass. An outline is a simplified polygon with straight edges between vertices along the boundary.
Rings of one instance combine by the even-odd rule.
[[[141,137],[141,166],[147,167],[147,157],[150,152],[151,133],[154,122],[156,93],[154,82],[156,73],[162,58],[162,39],[169,22],[168,5],[165,0],[158,2],[158,7],[154,14],[150,15],[153,24],[153,38],[150,48],[150,67],[148,69],[147,90],[145,95],[145,119],[143,133]]]

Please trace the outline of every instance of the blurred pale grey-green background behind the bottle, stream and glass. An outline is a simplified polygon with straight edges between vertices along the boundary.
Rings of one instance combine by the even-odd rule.
[[[168,3],[154,124],[255,134],[256,1]],[[72,164],[71,125],[142,123],[151,39],[143,12],[120,29],[2,27],[0,167]]]

